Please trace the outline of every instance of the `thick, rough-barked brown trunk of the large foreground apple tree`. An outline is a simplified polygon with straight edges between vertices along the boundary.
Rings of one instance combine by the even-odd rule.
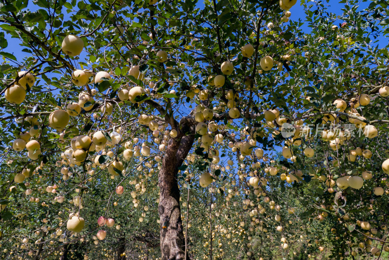
[[[161,260],[183,260],[185,238],[179,205],[178,167],[185,160],[195,140],[195,121],[184,117],[178,135],[169,141],[159,171],[159,220]]]

